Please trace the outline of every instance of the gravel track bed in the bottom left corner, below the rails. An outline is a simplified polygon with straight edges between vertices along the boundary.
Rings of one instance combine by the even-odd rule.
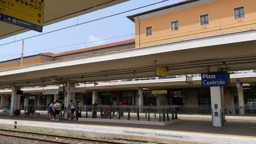
[[[35,144],[35,143],[36,144],[50,144],[49,142],[19,139],[17,137],[2,136],[2,135],[0,135],[0,143],[1,144]]]

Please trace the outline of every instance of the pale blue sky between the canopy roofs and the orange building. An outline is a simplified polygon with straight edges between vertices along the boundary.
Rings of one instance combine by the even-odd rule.
[[[45,26],[43,27],[43,33],[76,25],[77,23],[95,20],[104,16],[117,14],[126,10],[143,7],[144,5],[153,4],[161,1],[163,0],[131,0],[125,3],[114,5],[112,7],[97,10],[89,14],[57,22],[53,25]],[[126,16],[142,13],[143,11],[163,7],[165,5],[170,5],[182,1],[184,0],[170,0],[160,4],[152,5],[150,7],[130,11],[125,14],[108,17],[107,19],[98,20],[95,22],[86,23],[84,25],[79,25],[61,31],[41,35],[39,37],[26,39],[24,46],[24,56],[30,56],[44,52],[60,53],[64,51],[83,49],[86,47],[133,39],[135,38],[135,23],[127,19]],[[34,31],[18,34],[14,37],[0,40],[0,45],[38,34],[40,33]],[[120,37],[123,35],[126,36]],[[21,47],[21,41],[0,46],[0,61],[19,58],[21,56]]]

